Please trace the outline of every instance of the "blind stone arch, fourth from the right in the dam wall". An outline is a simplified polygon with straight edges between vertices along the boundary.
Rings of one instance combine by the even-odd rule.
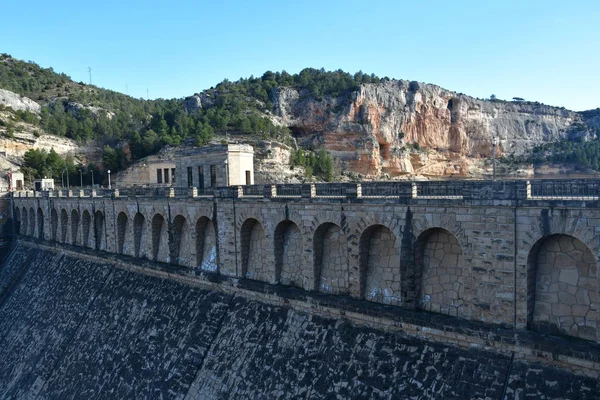
[[[332,294],[348,291],[347,248],[346,236],[338,225],[319,225],[313,237],[316,290]]]

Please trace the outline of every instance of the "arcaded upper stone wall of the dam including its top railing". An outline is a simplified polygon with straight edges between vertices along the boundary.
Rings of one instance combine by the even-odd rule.
[[[600,341],[600,181],[20,192],[15,232]]]

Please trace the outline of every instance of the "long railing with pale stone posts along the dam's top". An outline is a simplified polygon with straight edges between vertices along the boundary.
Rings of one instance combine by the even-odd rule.
[[[62,191],[13,192],[15,198],[35,197],[217,197],[217,198],[323,198],[409,200],[600,200],[600,179],[532,181],[421,181],[248,185],[217,188],[122,187]]]

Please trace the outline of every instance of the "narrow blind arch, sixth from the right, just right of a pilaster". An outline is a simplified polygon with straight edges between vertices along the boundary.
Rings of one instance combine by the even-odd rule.
[[[265,230],[258,220],[248,218],[242,224],[242,276],[255,280],[266,280],[266,249]]]

